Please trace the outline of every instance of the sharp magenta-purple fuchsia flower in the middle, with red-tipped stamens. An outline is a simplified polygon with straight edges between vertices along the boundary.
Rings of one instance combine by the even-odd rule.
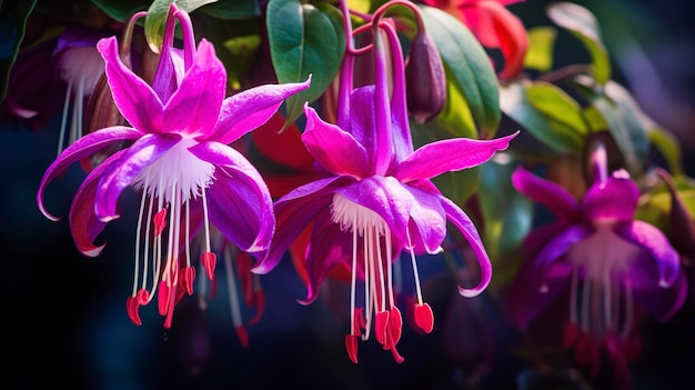
[[[357,338],[369,339],[372,327],[384,349],[397,362],[403,361],[396,351],[403,320],[392,282],[393,262],[403,251],[410,254],[414,268],[414,321],[425,332],[432,331],[434,318],[420,292],[415,256],[442,251],[447,220],[469,240],[481,267],[477,284],[460,287],[460,292],[472,297],[486,288],[492,268],[475,226],[430,179],[481,164],[506,149],[515,137],[490,141],[449,139],[414,151],[400,42],[391,24],[373,21],[372,26],[374,43],[367,52],[374,53],[375,82],[353,88],[356,54],[349,49],[340,76],[338,124],[323,121],[313,108],[304,107],[302,141],[324,178],[275,201],[275,236],[253,269],[259,273],[271,271],[298,237],[310,229],[304,252],[308,297],[303,302],[318,298],[319,287],[332,270],[350,270],[351,326],[345,347],[355,363]],[[385,52],[392,57],[387,59]],[[386,63],[392,64],[392,73]],[[363,290],[357,290],[357,279],[364,281]],[[361,308],[359,296],[364,302]]]

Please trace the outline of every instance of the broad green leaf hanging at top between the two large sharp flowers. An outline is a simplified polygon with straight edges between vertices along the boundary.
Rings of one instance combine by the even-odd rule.
[[[266,26],[270,53],[278,81],[300,82],[311,74],[311,87],[285,100],[286,120],[302,114],[338,74],[345,52],[341,12],[328,2],[270,0]]]

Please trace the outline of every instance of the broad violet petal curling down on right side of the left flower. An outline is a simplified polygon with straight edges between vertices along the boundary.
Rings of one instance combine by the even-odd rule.
[[[212,224],[243,251],[265,250],[275,229],[275,217],[261,174],[245,157],[222,143],[199,143],[189,151],[215,166],[215,179],[207,198]]]

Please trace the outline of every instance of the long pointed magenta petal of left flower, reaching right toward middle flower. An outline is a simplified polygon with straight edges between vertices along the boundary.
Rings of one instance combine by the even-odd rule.
[[[311,78],[304,82],[260,86],[224,99],[214,131],[205,139],[220,143],[238,140],[268,122],[284,99],[305,90],[310,83]]]

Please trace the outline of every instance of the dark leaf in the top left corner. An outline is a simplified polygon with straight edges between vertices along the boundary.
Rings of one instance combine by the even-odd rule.
[[[4,100],[10,80],[10,70],[24,39],[27,19],[36,0],[0,0],[0,102]]]

